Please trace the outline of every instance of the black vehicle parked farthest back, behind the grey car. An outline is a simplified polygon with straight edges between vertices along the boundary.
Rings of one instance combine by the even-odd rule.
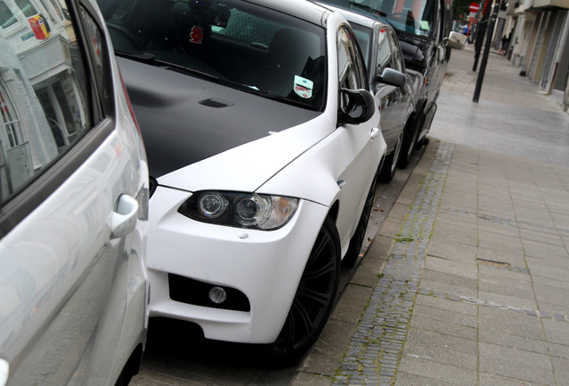
[[[328,0],[354,12],[389,23],[397,34],[407,71],[423,77],[415,94],[412,130],[405,138],[400,164],[409,164],[412,150],[421,147],[437,112],[437,97],[445,78],[451,48],[463,49],[466,37],[452,30],[451,2],[446,0]]]

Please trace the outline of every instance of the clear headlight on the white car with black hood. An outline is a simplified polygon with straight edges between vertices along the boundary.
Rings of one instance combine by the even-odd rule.
[[[269,231],[285,225],[298,202],[293,197],[202,191],[188,198],[178,212],[202,222]]]

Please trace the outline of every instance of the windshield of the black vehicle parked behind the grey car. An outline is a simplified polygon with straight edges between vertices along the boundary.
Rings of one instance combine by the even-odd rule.
[[[437,0],[325,0],[358,13],[381,17],[400,31],[436,38]]]

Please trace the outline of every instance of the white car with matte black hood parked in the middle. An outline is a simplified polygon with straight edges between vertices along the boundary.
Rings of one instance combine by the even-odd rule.
[[[352,29],[303,0],[99,5],[154,181],[150,316],[297,360],[360,251],[386,152]]]

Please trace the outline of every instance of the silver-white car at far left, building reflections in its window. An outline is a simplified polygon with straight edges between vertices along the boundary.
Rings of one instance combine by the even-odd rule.
[[[0,7],[0,385],[125,385],[148,326],[149,172],[89,0]]]

